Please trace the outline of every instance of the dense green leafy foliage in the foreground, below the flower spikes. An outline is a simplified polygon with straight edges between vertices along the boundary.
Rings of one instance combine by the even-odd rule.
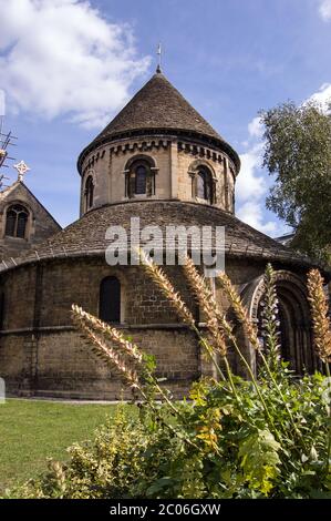
[[[240,300],[234,300],[239,308]],[[138,382],[144,398],[138,418],[128,418],[118,407],[115,420],[92,441],[70,449],[68,463],[50,462],[45,476],[11,496],[331,498],[328,380],[319,372],[294,378],[279,357],[271,266],[263,302],[258,379],[252,371],[250,380],[234,375],[224,357],[227,377],[220,370],[219,381],[201,378],[193,384],[189,400],[175,402],[154,375],[155,360],[147,357]]]

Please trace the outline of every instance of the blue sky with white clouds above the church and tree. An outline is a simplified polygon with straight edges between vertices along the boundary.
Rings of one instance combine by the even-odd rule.
[[[241,155],[238,216],[285,232],[265,210],[272,180],[260,168],[257,113],[331,96],[331,0],[0,0],[0,9],[6,129],[31,167],[27,185],[61,225],[77,218],[80,151],[154,73],[161,41],[167,78]]]

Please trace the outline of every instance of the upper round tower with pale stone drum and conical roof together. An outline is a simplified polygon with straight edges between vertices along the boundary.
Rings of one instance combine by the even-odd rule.
[[[238,154],[161,72],[86,146],[77,166],[81,215],[133,200],[235,210]]]

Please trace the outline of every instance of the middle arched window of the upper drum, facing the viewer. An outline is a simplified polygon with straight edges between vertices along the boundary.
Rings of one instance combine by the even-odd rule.
[[[141,159],[133,161],[126,171],[125,196],[134,197],[135,195],[154,195],[155,194],[155,175],[154,168],[147,160]]]

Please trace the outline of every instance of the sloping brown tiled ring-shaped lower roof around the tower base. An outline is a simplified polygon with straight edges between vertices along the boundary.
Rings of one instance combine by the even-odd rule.
[[[225,226],[226,257],[255,258],[303,268],[318,265],[309,257],[290,249],[219,208],[179,201],[131,201],[90,211],[39,245],[35,251],[27,252],[15,259],[3,260],[0,264],[0,273],[53,258],[104,255],[111,244],[105,238],[106,229],[110,226],[123,226],[128,232],[132,217],[139,218],[141,228],[147,225],[159,226],[164,236],[168,225]]]

